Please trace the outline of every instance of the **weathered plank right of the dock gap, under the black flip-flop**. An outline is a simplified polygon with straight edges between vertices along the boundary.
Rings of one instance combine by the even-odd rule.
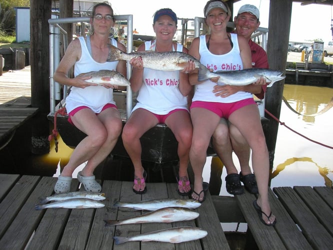
[[[235,195],[235,198],[259,249],[286,249],[274,227],[266,226],[259,220],[252,204],[255,196],[244,190],[244,194]],[[275,212],[273,207],[272,211]]]

